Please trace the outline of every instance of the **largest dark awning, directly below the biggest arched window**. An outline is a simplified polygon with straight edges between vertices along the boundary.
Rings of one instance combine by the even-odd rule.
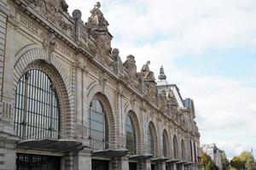
[[[27,139],[17,144],[18,149],[66,153],[83,150],[82,142],[73,139]]]

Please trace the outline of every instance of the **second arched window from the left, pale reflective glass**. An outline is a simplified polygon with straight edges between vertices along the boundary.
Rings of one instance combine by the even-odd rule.
[[[92,99],[89,110],[90,147],[95,150],[108,148],[108,119],[99,99]]]

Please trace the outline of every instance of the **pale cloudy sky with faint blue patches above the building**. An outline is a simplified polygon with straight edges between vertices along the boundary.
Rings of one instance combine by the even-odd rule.
[[[96,1],[66,0],[87,21]],[[228,157],[256,152],[255,0],[102,0],[102,12],[125,61],[149,59],[195,101],[201,144]]]

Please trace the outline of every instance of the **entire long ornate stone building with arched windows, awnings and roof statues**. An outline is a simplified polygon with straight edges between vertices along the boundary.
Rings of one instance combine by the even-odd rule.
[[[198,169],[192,99],[122,63],[96,3],[0,1],[0,169]]]

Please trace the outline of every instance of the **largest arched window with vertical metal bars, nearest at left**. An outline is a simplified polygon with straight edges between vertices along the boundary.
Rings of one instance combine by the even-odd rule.
[[[55,87],[44,71],[20,78],[15,94],[15,135],[21,139],[58,139],[60,107]]]

